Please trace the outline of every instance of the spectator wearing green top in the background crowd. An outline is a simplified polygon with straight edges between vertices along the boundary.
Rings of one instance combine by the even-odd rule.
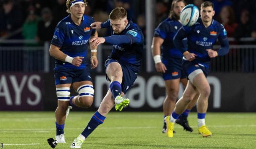
[[[34,10],[31,9],[22,26],[22,36],[24,39],[35,39],[37,36],[37,26],[39,18],[34,13]]]

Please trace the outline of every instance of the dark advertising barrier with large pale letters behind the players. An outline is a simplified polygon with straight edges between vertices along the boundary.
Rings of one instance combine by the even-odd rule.
[[[94,80],[94,104],[89,109],[73,108],[75,111],[96,111],[107,92],[109,82],[104,74],[92,73]],[[255,112],[256,73],[210,73],[211,87],[208,111]],[[158,73],[140,73],[126,97],[130,105],[124,111],[162,111],[165,99],[164,80]],[[184,88],[180,85],[179,97]],[[71,91],[71,93],[75,93]],[[45,110],[57,107],[54,77],[51,73],[0,73],[0,110]],[[114,109],[112,109],[114,111]],[[192,111],[196,111],[194,107]]]

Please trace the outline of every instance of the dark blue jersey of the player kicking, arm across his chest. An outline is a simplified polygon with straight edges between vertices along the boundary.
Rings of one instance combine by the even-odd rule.
[[[110,27],[111,35],[105,38],[105,42],[113,44],[112,53],[108,58],[118,60],[120,64],[124,64],[135,72],[138,72],[141,66],[142,55],[144,53],[143,44],[144,36],[130,18],[126,28],[119,34],[114,33],[110,27],[110,20],[107,20],[101,27]]]

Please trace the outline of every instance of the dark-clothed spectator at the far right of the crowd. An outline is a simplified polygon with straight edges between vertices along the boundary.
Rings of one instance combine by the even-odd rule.
[[[248,10],[244,9],[240,15],[240,23],[235,29],[234,38],[237,40],[242,37],[251,37],[251,33],[254,29],[253,23],[250,19],[250,13]]]

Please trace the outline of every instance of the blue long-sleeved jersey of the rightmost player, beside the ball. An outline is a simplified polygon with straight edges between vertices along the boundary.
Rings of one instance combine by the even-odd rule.
[[[206,49],[213,49],[213,45],[218,39],[221,44],[221,48],[217,50],[218,56],[229,53],[229,42],[226,35],[226,30],[219,22],[212,20],[210,26],[206,28],[201,18],[199,18],[191,27],[183,26],[179,29],[173,42],[182,53],[185,51],[195,53],[197,57],[193,62],[203,64],[209,68],[210,57]],[[182,47],[181,42],[185,37],[187,37],[187,48]]]

